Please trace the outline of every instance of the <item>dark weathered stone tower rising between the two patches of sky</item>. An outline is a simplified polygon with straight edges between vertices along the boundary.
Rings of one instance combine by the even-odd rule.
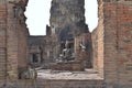
[[[64,40],[88,32],[84,7],[85,0],[52,0],[50,19],[52,33]]]

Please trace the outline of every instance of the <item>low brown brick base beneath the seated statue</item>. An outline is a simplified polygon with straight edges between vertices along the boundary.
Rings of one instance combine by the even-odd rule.
[[[51,66],[53,70],[73,70],[73,72],[81,72],[85,70],[85,67],[81,62],[61,62],[55,63]]]

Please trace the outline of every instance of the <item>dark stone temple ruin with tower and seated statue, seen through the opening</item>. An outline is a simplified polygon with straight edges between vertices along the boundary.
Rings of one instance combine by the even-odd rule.
[[[34,54],[36,54],[37,62],[35,63],[43,61],[43,63],[41,62],[40,65],[44,65],[44,67],[68,70],[73,70],[74,65],[78,65],[78,68],[76,66],[75,70],[82,70],[85,69],[82,66],[85,64],[82,63],[91,63],[91,50],[88,48],[90,47],[89,45],[91,45],[91,34],[89,33],[88,26],[85,23],[85,1],[82,0],[80,1],[81,3],[78,4],[79,1],[80,0],[52,1],[50,19],[51,24],[50,26],[46,25],[46,35],[43,37],[30,36],[30,50],[36,47],[34,53],[31,51],[30,61],[33,61]],[[80,37],[82,34],[88,35],[87,38],[89,40],[85,41],[85,37]],[[77,45],[75,45],[76,42],[78,42]],[[84,52],[87,54],[86,56],[88,57],[86,59],[77,54],[78,52],[82,51],[82,43],[84,46],[87,44],[86,50],[84,50]],[[40,47],[41,50],[38,54],[37,48]],[[31,64],[34,65],[33,62],[31,62]]]

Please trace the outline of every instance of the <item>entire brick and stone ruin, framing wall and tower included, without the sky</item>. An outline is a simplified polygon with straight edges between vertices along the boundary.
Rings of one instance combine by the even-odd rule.
[[[0,0],[0,88],[132,88],[132,0],[52,0],[46,35],[30,35],[29,0]]]

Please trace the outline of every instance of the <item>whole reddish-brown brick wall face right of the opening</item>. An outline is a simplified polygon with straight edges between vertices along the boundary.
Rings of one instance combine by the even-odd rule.
[[[131,6],[131,0],[103,3],[105,79],[108,84],[132,84]]]

